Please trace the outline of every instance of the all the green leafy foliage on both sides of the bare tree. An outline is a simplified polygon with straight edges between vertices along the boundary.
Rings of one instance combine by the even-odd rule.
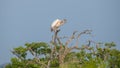
[[[120,68],[120,51],[115,49],[115,46],[113,42],[97,48],[82,46],[77,52],[68,53],[62,64],[59,64],[58,58],[53,56],[50,68]],[[58,52],[60,46],[56,48]],[[25,47],[13,49],[12,53],[16,57],[11,58],[11,63],[6,65],[6,68],[46,68],[51,50],[45,42],[26,43]],[[27,58],[28,53],[33,58]]]

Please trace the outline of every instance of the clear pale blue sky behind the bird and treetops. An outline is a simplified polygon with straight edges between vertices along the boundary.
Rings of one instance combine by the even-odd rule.
[[[92,39],[120,49],[119,0],[0,0],[0,64],[10,62],[10,50],[26,42],[50,42],[50,25],[67,19],[60,35],[92,29]],[[85,42],[85,41],[84,41]]]

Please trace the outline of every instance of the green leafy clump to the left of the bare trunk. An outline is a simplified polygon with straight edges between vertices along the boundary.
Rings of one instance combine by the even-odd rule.
[[[6,68],[43,68],[45,67],[47,54],[51,52],[51,49],[45,42],[33,42],[26,43],[25,47],[14,48],[12,53],[16,56],[11,58],[11,63],[6,65]],[[33,58],[27,58],[26,56],[32,54]],[[44,55],[46,60],[43,60]],[[44,61],[44,62],[43,62]]]

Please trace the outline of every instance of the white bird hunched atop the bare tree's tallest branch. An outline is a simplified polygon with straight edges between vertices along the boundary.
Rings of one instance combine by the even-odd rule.
[[[57,31],[58,28],[60,26],[62,26],[63,24],[66,23],[66,19],[60,20],[60,19],[56,19],[55,21],[53,21],[53,23],[51,24],[51,32],[52,31]]]

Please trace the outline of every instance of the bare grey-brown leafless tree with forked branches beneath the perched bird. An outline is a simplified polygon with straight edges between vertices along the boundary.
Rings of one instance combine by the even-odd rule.
[[[78,42],[79,42],[79,38],[81,37],[81,35],[91,34],[91,30],[84,30],[83,32],[80,32],[80,33],[78,33],[78,31],[74,31],[70,37],[67,37],[68,39],[66,40],[66,42],[63,43],[61,41],[61,37],[58,36],[59,32],[60,32],[60,30],[55,31],[54,35],[52,36],[52,41],[51,41],[52,51],[51,51],[50,60],[48,61],[47,68],[49,68],[50,62],[54,58],[58,59],[58,62],[59,62],[60,65],[63,64],[64,59],[65,59],[67,54],[69,54],[73,49],[80,49],[78,47]],[[64,38],[65,37],[63,37],[63,39]],[[76,40],[76,43],[73,46],[70,47],[69,44],[73,41],[73,39]],[[59,50],[56,49],[57,46],[59,46]],[[53,55],[56,55],[56,56],[53,57]]]

